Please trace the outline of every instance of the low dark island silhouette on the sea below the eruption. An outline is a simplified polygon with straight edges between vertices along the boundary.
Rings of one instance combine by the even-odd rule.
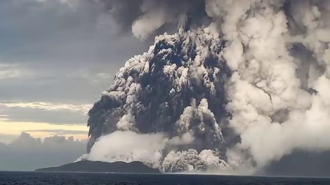
[[[159,169],[147,167],[142,162],[100,162],[82,160],[61,167],[36,169],[41,172],[92,172],[92,173],[160,173]]]

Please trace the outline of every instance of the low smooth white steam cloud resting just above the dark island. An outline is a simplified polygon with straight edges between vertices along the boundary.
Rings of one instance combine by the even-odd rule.
[[[100,137],[86,159],[108,162],[143,161],[152,167],[159,167],[162,150],[165,148],[166,142],[164,134],[137,134],[131,131],[117,131]]]

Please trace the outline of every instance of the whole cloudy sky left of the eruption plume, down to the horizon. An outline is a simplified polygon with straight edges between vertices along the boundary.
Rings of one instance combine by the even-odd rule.
[[[0,163],[12,164],[0,171],[65,164],[83,154],[89,108],[120,66],[148,48],[90,2],[0,1]],[[50,155],[47,142],[67,157]]]

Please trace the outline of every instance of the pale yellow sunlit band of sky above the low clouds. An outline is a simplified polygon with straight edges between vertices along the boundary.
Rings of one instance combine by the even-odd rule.
[[[54,135],[66,137],[74,135],[74,138],[79,140],[87,138],[87,126],[84,119],[87,118],[87,112],[91,108],[90,104],[2,102],[0,108],[0,112],[3,112],[0,114],[0,127],[2,128],[0,134],[2,135],[14,138],[21,132],[26,132],[35,138]],[[20,114],[20,111],[23,112],[23,115]],[[24,116],[24,112],[32,115]],[[45,112],[47,112],[46,116]],[[65,116],[70,114],[77,117],[76,123],[75,120],[67,119],[66,121]],[[63,119],[56,119],[57,116],[63,116]],[[79,120],[80,118],[81,120]],[[10,137],[0,137],[0,142],[9,143]]]

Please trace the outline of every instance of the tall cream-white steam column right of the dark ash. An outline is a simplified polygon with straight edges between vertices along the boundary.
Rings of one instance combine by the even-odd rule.
[[[208,14],[221,17],[219,27],[228,40],[224,58],[233,74],[227,84],[227,109],[232,113],[230,126],[241,136],[236,147],[248,149],[257,167],[294,149],[330,149],[329,96],[325,93],[330,87],[329,21],[317,21],[329,15],[328,10],[320,12],[319,7],[327,7],[323,3],[292,3],[307,11],[294,14],[303,19],[299,26],[305,27],[300,41],[314,53],[319,67],[325,67],[325,73],[309,79],[308,87],[318,92],[310,95],[296,74],[301,61],[290,53],[292,46],[285,40],[290,33],[282,1],[206,1]],[[287,120],[273,121],[272,116],[281,110],[288,111]]]

